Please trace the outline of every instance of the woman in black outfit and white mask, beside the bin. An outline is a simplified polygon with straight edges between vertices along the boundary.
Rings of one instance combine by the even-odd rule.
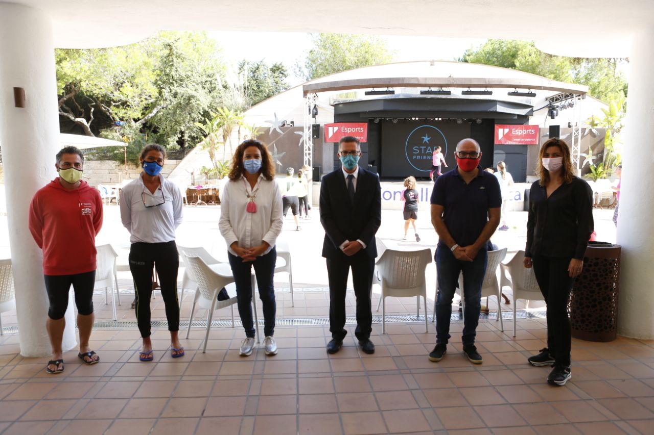
[[[572,378],[568,298],[593,233],[593,191],[574,176],[570,148],[559,138],[543,144],[537,171],[540,180],[532,184],[529,197],[524,264],[534,266],[547,303],[547,347],[528,361],[534,366],[553,364],[547,381],[565,385]]]

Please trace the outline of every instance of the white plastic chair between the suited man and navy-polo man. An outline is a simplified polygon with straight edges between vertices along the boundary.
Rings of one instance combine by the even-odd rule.
[[[381,332],[386,333],[386,302],[387,297],[406,298],[416,296],[424,298],[424,332],[427,330],[427,285],[424,271],[432,262],[432,251],[385,250],[379,261],[379,280],[381,281]],[[379,310],[379,308],[377,308]],[[416,317],[419,317],[420,310]]]

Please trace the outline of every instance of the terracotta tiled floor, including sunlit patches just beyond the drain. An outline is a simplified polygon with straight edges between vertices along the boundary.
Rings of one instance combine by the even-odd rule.
[[[131,298],[125,295],[120,315],[132,319]],[[278,298],[284,310],[292,309],[288,293]],[[95,299],[98,317],[106,321],[111,310],[101,304],[103,295]],[[324,291],[296,291],[298,310],[314,306],[324,317],[325,301]],[[413,299],[388,302],[392,313],[415,312]],[[153,307],[153,318],[163,317],[162,307]],[[222,311],[226,318],[228,311]],[[426,356],[434,344],[432,323],[428,333],[424,323],[387,324],[385,335],[381,325],[373,325],[374,355],[360,352],[352,334],[339,353],[327,355],[328,327],[277,327],[279,354],[266,357],[258,349],[247,358],[238,355],[240,329],[213,329],[204,354],[204,331],[193,329],[190,339],[182,340],[186,356],[181,359],[170,357],[167,331],[158,329],[153,362],[138,361],[137,330],[99,329],[92,346],[101,362],[84,366],[77,351],[70,351],[58,376],[44,372],[48,358],[20,357],[18,335],[5,334],[0,430],[21,435],[654,432],[654,342],[574,340],[572,381],[551,387],[545,383],[549,368],[526,364],[526,357],[545,345],[544,321],[519,320],[515,338],[510,324],[506,321],[502,333],[495,321],[480,322],[481,366],[460,353],[460,322],[453,322],[453,342],[439,363]]]

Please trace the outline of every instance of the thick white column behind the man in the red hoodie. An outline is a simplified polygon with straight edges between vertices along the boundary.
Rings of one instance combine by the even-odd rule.
[[[13,88],[25,89],[24,108],[14,106]],[[34,193],[56,176],[55,155],[61,149],[52,20],[11,3],[0,3],[0,146],[20,353],[45,356],[51,349],[43,255],[27,229],[27,211]],[[77,344],[72,298],[69,302],[64,351]]]

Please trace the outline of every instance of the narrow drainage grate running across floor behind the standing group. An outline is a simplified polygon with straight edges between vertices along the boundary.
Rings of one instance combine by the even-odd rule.
[[[530,311],[526,312],[523,310],[520,310],[516,313],[515,315],[516,319],[544,319],[545,318],[545,311],[544,310],[539,310],[539,311]],[[479,320],[496,320],[497,319],[497,313],[492,312],[490,314],[481,314],[479,315]],[[502,319],[504,320],[512,320],[513,319],[513,312],[512,311],[504,311],[502,312]],[[427,316],[428,321],[432,321],[432,315]],[[458,312],[453,312],[452,321],[463,321],[463,315]],[[424,315],[387,315],[386,316],[386,323],[419,323],[419,322],[424,322]],[[346,317],[345,323],[349,325],[356,325],[356,317],[350,316]],[[372,323],[373,324],[381,324],[381,315],[373,315],[372,316]],[[168,327],[168,322],[165,320],[153,320],[150,322],[153,328],[167,328]],[[240,320],[234,319],[234,325],[235,327],[242,327],[243,324],[241,323]],[[259,325],[264,326],[264,319],[259,319]],[[314,319],[277,319],[275,321],[276,326],[322,326],[322,325],[329,325],[329,317],[316,317]],[[231,320],[213,320],[211,321],[211,326],[212,327],[232,327],[232,321]],[[179,329],[184,329],[185,327],[188,327],[188,320],[181,320],[179,322]],[[207,327],[207,321],[206,320],[194,320],[191,323],[191,327],[194,328],[206,328]],[[109,329],[109,330],[120,330],[120,329],[137,329],[138,324],[136,321],[132,320],[118,320],[118,321],[96,321],[93,325],[94,329]],[[16,334],[18,332],[18,327],[16,326],[10,326],[10,327],[4,327],[3,332],[5,334]]]

